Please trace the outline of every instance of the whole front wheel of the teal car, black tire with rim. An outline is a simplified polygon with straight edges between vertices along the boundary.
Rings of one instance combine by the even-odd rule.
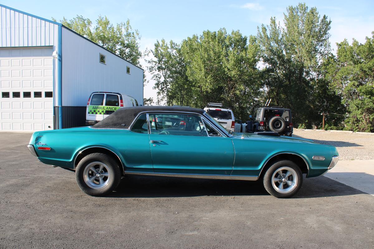
[[[282,169],[282,171],[279,171],[280,169]],[[286,181],[283,181],[283,178],[279,178],[279,172],[282,172],[284,177],[288,171],[292,175],[289,175],[286,178]],[[274,181],[274,178],[279,178],[279,181]],[[269,169],[267,169],[263,177],[263,182],[266,191],[272,196],[277,198],[289,198],[294,196],[303,185],[303,173],[294,162],[282,160],[275,162]],[[292,184],[289,184],[288,182],[291,182]]]

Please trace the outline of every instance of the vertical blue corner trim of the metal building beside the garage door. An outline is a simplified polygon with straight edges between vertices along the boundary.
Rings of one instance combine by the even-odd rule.
[[[62,129],[62,26],[58,26],[58,61],[57,61],[57,106],[58,128]]]

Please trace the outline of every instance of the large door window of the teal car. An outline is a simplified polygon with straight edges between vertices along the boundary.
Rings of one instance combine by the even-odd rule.
[[[151,134],[200,137],[208,136],[199,115],[150,113],[149,123]]]

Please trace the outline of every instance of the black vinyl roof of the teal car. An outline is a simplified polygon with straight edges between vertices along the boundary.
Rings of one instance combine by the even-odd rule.
[[[126,129],[129,128],[136,116],[140,112],[193,112],[203,114],[202,109],[184,107],[184,106],[135,106],[123,107],[113,112],[107,118],[93,125],[92,128],[112,128]]]

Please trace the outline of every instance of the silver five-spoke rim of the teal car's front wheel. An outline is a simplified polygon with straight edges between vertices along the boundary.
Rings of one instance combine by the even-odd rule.
[[[297,186],[298,176],[296,171],[290,167],[277,169],[272,177],[272,185],[276,192],[287,194]]]

